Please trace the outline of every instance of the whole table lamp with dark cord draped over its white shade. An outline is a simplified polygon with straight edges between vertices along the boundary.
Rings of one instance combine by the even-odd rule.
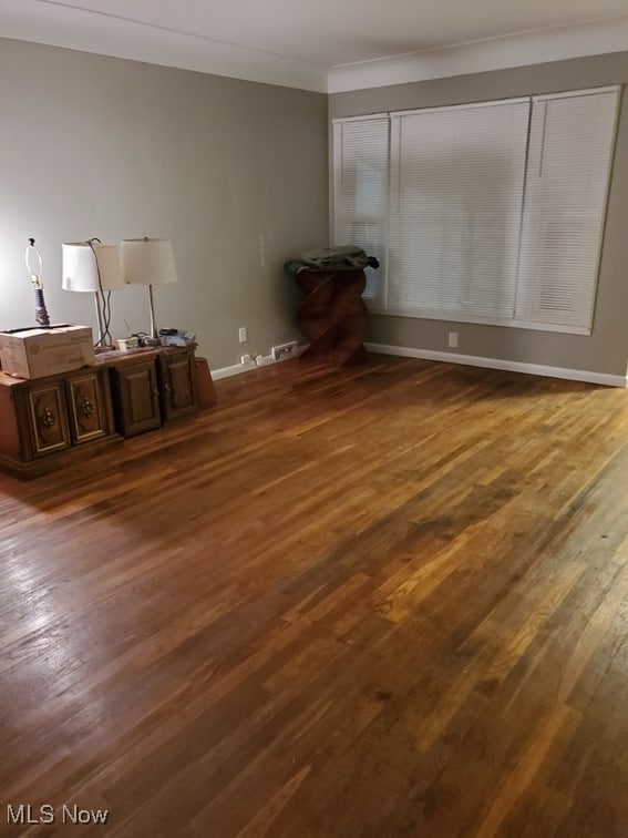
[[[112,290],[124,287],[117,245],[103,244],[100,238],[91,238],[89,242],[69,242],[61,247],[63,289],[92,292],[99,320],[96,347],[111,344],[110,296]]]

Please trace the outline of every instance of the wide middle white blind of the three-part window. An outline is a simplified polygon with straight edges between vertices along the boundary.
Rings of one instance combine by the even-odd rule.
[[[529,102],[392,115],[388,308],[512,317]]]

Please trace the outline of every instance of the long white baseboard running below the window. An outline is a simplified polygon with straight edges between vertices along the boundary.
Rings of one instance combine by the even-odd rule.
[[[546,367],[542,364],[524,364],[522,361],[503,360],[502,358],[483,358],[476,355],[439,352],[433,351],[432,349],[412,349],[405,346],[389,346],[388,344],[364,344],[364,346],[371,352],[399,355],[403,358],[422,358],[423,360],[444,361],[445,364],[463,364],[467,367],[502,369],[509,372],[527,372],[532,376],[565,378],[569,381],[587,381],[588,384],[605,385],[607,387],[628,387],[628,376],[612,376],[608,372],[591,372],[587,369]]]

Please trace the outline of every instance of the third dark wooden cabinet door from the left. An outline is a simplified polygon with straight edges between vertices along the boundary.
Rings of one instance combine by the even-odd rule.
[[[125,437],[161,425],[155,361],[142,361],[112,370],[117,429]]]

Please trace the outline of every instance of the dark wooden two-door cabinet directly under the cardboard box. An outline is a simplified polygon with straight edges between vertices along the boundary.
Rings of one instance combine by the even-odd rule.
[[[0,466],[17,477],[58,469],[79,450],[121,442],[106,370],[25,380],[0,372]]]

